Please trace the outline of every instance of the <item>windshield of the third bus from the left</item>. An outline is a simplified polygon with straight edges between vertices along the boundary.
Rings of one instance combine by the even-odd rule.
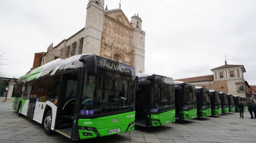
[[[189,110],[196,107],[195,89],[190,93],[189,87],[185,86],[183,96],[183,109]]]

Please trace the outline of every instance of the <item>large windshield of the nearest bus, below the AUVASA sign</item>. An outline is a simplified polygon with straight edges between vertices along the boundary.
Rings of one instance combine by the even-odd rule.
[[[131,76],[98,69],[96,76],[84,79],[81,104],[91,115],[134,108],[135,81]]]

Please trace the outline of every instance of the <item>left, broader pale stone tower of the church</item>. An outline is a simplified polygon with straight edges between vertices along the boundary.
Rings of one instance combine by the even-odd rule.
[[[87,5],[82,53],[100,54],[103,22],[104,0],[89,0]]]

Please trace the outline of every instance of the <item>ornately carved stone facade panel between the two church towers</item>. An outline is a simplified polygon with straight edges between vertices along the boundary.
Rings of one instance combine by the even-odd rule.
[[[122,14],[116,13],[113,16],[115,17],[108,17],[107,14],[104,16],[100,55],[111,59],[114,59],[114,55],[118,55],[120,62],[133,65],[132,26],[125,25],[126,17]]]

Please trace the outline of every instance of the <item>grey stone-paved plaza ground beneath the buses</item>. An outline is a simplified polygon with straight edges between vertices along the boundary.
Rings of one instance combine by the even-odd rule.
[[[58,134],[45,135],[43,128],[26,117],[18,117],[11,102],[0,102],[0,143],[71,142]],[[80,142],[256,142],[256,119],[239,113],[200,120],[176,121],[167,126],[145,129]]]

